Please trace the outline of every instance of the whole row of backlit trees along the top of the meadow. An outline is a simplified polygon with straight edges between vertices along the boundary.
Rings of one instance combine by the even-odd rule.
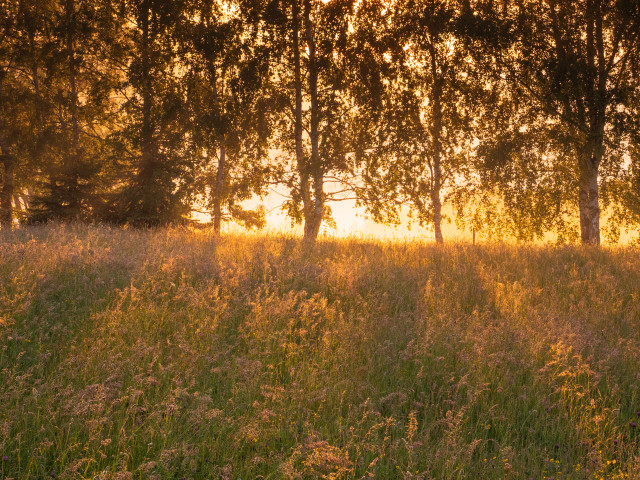
[[[0,224],[640,222],[637,0],[0,0]],[[579,218],[579,228],[576,218]]]

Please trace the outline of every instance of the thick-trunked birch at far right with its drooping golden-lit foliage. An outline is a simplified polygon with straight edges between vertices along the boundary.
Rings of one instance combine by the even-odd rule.
[[[476,132],[484,185],[519,235],[566,231],[577,204],[582,241],[599,243],[594,226],[637,129],[637,2],[503,2],[479,16],[491,92]]]

